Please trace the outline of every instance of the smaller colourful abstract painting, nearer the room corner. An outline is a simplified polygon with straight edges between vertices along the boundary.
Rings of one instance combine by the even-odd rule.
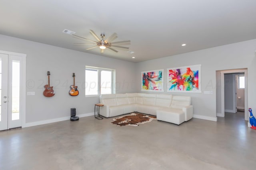
[[[142,73],[142,91],[164,92],[164,70],[144,71]]]

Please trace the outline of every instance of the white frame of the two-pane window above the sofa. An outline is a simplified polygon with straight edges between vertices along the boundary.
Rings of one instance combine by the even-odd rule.
[[[101,71],[110,71],[111,72],[111,94],[115,93],[114,90],[114,82],[115,82],[115,70],[110,69],[110,68],[100,68],[100,67],[93,67],[93,66],[85,66],[84,70],[84,78],[85,78],[85,83],[86,83],[86,70],[96,70],[98,72],[98,94],[86,94],[85,90],[85,96],[86,97],[96,97],[101,95]],[[86,84],[85,84],[85,89],[86,89]]]

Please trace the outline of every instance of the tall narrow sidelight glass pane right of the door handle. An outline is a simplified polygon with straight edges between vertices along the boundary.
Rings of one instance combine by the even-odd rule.
[[[12,120],[20,119],[20,61],[12,61]]]

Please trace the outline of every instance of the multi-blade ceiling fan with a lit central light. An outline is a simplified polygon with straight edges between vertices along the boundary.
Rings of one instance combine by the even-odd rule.
[[[121,48],[121,49],[129,49],[129,47],[123,47],[123,46],[119,46],[119,45],[116,45],[116,44],[122,44],[122,45],[130,45],[130,40],[128,41],[117,41],[117,42],[112,42],[114,41],[114,39],[117,38],[117,34],[116,33],[113,33],[110,37],[108,37],[106,40],[104,39],[105,38],[105,34],[104,33],[101,33],[100,34],[100,38],[96,35],[96,33],[94,33],[94,31],[92,31],[92,29],[90,29],[90,33],[92,34],[92,36],[94,36],[94,38],[97,40],[97,41],[93,41],[91,39],[87,39],[87,38],[84,38],[84,37],[81,37],[81,36],[78,36],[78,35],[75,35],[75,34],[72,34],[73,36],[79,38],[79,39],[82,39],[82,40],[87,40],[87,41],[91,41],[92,43],[74,43],[74,44],[90,44],[90,45],[95,45],[93,47],[90,47],[90,48],[87,48],[86,50],[90,50],[90,49],[94,49],[96,47],[100,47],[101,49],[101,53],[104,52],[104,49],[110,49],[116,53],[118,53],[118,51],[116,49],[113,49],[112,47],[117,47],[117,48]],[[112,42],[112,43],[111,43]]]

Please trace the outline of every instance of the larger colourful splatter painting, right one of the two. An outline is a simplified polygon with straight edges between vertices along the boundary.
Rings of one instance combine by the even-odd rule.
[[[168,68],[168,92],[198,92],[200,84],[201,65]]]

